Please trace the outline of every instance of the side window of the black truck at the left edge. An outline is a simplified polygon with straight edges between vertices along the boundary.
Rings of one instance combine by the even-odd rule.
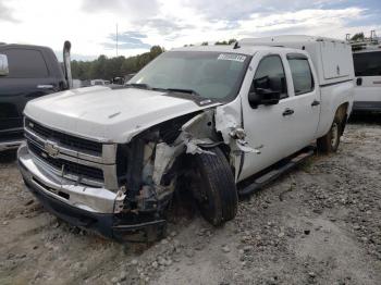
[[[49,76],[40,51],[33,49],[7,49],[9,78],[45,78]]]

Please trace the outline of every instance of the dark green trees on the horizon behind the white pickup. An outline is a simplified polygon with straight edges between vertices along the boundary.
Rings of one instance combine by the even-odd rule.
[[[216,41],[214,45],[231,45],[235,42],[235,39]],[[208,46],[207,41],[201,44]],[[185,47],[194,45],[185,45]],[[134,57],[115,57],[107,58],[106,55],[99,55],[94,61],[72,61],[72,75],[75,79],[89,80],[89,79],[112,79],[114,77],[123,77],[127,74],[136,73],[142,70],[147,63],[153,60],[156,57],[164,52],[164,48],[153,46],[148,52],[134,55]]]

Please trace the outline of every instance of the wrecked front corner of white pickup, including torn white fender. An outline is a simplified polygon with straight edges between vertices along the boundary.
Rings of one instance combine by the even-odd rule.
[[[128,228],[123,215],[132,213],[151,216],[150,225],[164,224],[173,194],[182,190],[181,181],[192,172],[187,158],[194,154],[214,154],[209,149],[221,148],[237,178],[243,152],[256,152],[247,146],[238,119],[222,106],[172,119],[120,145],[116,168],[125,199],[116,227]]]

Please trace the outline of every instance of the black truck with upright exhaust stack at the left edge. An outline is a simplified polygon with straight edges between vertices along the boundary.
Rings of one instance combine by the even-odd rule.
[[[67,54],[70,44],[65,47]],[[15,149],[23,141],[26,102],[67,89],[66,73],[50,48],[0,45],[0,151]]]

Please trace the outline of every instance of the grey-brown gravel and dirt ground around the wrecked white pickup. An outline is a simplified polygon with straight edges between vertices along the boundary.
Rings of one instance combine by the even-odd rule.
[[[381,116],[356,117],[315,157],[213,228],[196,212],[150,246],[57,220],[0,157],[0,284],[381,284]]]

